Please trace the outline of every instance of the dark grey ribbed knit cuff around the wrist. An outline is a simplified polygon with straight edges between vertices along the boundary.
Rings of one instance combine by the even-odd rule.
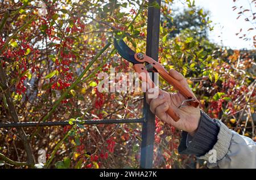
[[[182,132],[178,151],[180,154],[203,156],[213,148],[217,142],[220,128],[215,119],[210,118],[201,110],[201,118],[196,134],[192,137],[188,132]]]

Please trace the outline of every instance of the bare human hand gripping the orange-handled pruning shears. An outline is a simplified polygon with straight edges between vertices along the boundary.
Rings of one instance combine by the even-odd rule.
[[[170,75],[172,75],[181,84],[188,87],[187,80],[179,72],[172,69],[170,70]],[[193,106],[179,108],[182,102],[186,100],[186,98],[181,95],[180,92],[168,93],[162,89],[158,89],[158,91],[158,95],[153,98],[152,93],[150,93],[153,92],[152,89],[149,89],[149,91],[146,93],[146,101],[147,104],[150,105],[151,112],[156,114],[156,116],[162,121],[167,122],[180,130],[187,131],[191,136],[193,136],[197,130],[197,127],[199,126],[201,117],[199,106],[197,108]],[[150,96],[150,98],[148,96]],[[179,115],[179,121],[175,122],[174,119],[172,119],[170,115],[166,113],[170,107],[177,115]]]

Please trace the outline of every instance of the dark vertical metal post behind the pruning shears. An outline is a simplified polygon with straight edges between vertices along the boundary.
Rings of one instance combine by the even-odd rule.
[[[149,0],[149,5],[155,0]],[[161,1],[157,0],[160,5]],[[160,9],[148,7],[147,15],[147,49],[146,55],[158,61],[159,47],[159,28],[160,28]],[[154,80],[154,75],[152,75]],[[155,141],[155,115],[150,112],[150,108],[144,98],[143,113],[146,117],[146,122],[142,125],[142,145],[141,145],[141,168],[152,168],[153,150]]]

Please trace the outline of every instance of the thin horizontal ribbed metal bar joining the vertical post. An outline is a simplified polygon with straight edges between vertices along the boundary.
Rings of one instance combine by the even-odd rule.
[[[91,120],[81,120],[73,122],[73,124],[80,125],[99,125],[99,124],[122,124],[122,123],[143,123],[145,118],[137,119],[91,119]],[[10,123],[0,123],[0,128],[7,127],[36,127],[36,126],[71,126],[69,121],[48,121],[48,122],[10,122]]]

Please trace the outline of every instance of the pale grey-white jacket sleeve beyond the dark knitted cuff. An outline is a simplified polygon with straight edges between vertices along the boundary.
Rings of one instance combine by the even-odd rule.
[[[256,144],[246,136],[229,130],[217,121],[220,131],[212,150],[198,158],[206,160],[209,168],[254,168],[256,169]]]

